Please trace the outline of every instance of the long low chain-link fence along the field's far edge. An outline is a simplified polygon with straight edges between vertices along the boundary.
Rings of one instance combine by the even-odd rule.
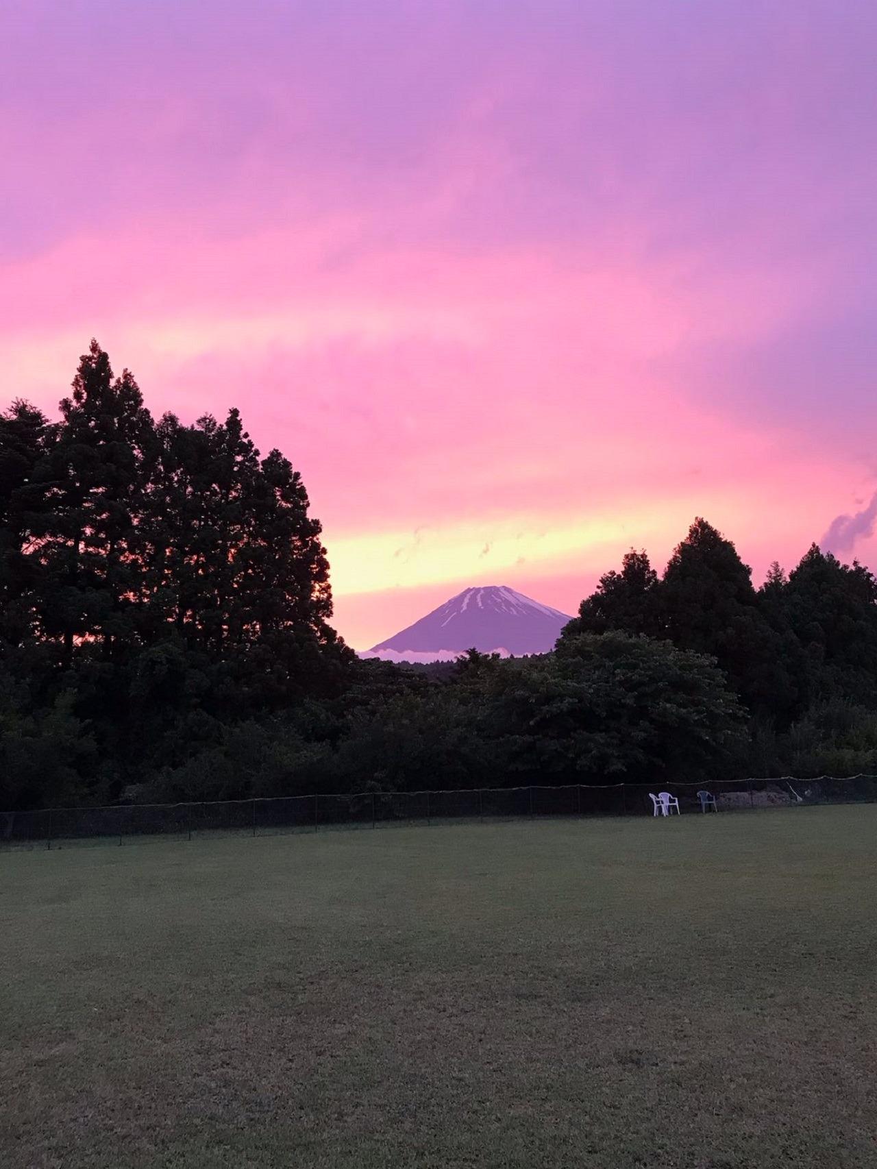
[[[216,835],[262,836],[329,828],[381,828],[454,821],[558,816],[651,816],[650,793],[663,784],[610,783],[562,787],[476,788],[458,791],[360,791],[179,804],[116,804],[0,812],[0,846],[60,848],[118,844],[157,836],[185,839]],[[877,776],[815,780],[732,780],[668,784],[683,812],[702,810],[698,790],[719,811],[769,807],[877,802]],[[712,812],[712,807],[709,809]]]

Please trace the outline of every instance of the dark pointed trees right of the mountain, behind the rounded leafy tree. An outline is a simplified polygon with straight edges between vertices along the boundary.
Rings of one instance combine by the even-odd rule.
[[[706,655],[748,714],[751,774],[877,772],[877,581],[814,544],[760,588],[734,548],[697,519],[662,576],[645,552],[600,577],[559,648],[607,631]]]

